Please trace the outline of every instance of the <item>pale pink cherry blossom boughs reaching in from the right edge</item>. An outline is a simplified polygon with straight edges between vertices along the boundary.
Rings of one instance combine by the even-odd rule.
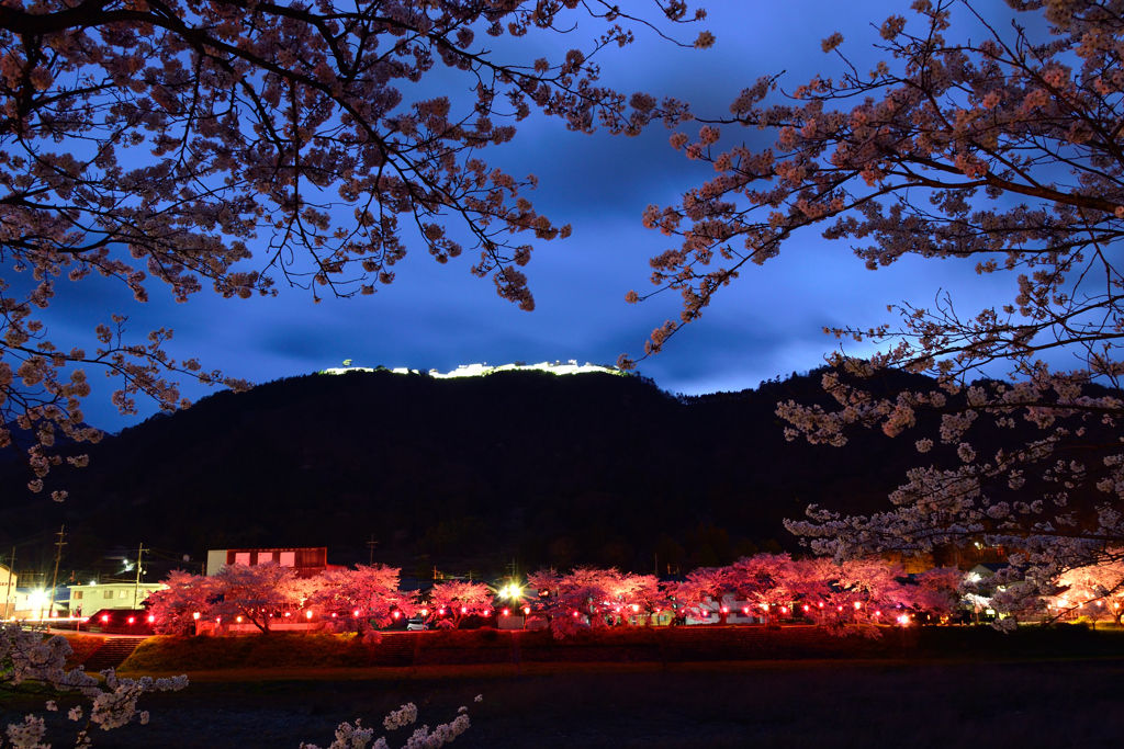
[[[998,9],[989,18],[969,1],[914,0],[913,20],[881,25],[882,62],[869,72],[835,34],[823,51],[842,61],[839,77],[817,76],[774,104],[765,100],[778,79],[759,79],[728,117],[704,120],[697,137],[677,133],[671,145],[716,175],[644,213],[645,226],[680,240],[652,259],[653,293],[674,290],[683,302],[645,356],[750,265],[792,252],[790,240],[812,230],[852,243],[870,270],[917,256],[1012,275],[1010,296],[975,313],[944,293],[933,307],[891,305],[899,326],[825,329],[879,353],[841,348],[823,376],[833,402],[782,403],[778,414],[789,438],[827,445],[854,428],[898,436],[939,422],[939,438],[934,427],[917,439],[926,463],[891,509],[812,508],[789,523],[815,549],[843,559],[1004,546],[1017,552],[1008,582],[1034,596],[1067,569],[1118,558],[1112,549],[1124,541],[1124,4],[1007,4],[1000,21]],[[776,143],[719,146],[736,126],[773,131]],[[1071,364],[1059,366],[1063,357]],[[1010,382],[978,380],[997,369]],[[903,386],[901,372],[931,380]],[[988,430],[1001,447],[985,454]]]

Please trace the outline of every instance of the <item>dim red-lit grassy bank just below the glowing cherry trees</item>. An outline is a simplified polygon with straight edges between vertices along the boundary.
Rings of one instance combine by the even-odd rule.
[[[745,638],[750,638],[747,643]],[[83,638],[84,639],[84,638]],[[397,648],[398,658],[388,654]],[[416,652],[415,652],[416,648]],[[366,645],[352,634],[274,632],[248,637],[154,637],[137,648],[123,673],[221,670],[317,672],[380,666],[495,666],[517,673],[533,664],[568,661],[674,664],[801,658],[908,660],[1124,658],[1124,630],[1081,625],[1024,628],[1004,634],[981,628],[889,629],[880,640],[835,638],[812,628],[605,629],[555,640],[550,632],[495,630],[391,634]]]

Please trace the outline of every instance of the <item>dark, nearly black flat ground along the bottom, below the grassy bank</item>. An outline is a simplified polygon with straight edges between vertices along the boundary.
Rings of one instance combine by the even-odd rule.
[[[483,703],[473,703],[480,693]],[[468,705],[473,727],[453,745],[461,749],[1124,745],[1120,659],[779,661],[631,673],[197,683],[145,701],[153,715],[148,725],[93,738],[105,749],[296,749],[301,741],[326,747],[341,721],[361,718],[381,729],[383,714],[411,701],[420,709],[418,722],[430,725]],[[399,729],[388,738],[399,747],[407,736]],[[66,746],[58,738],[55,746]]]

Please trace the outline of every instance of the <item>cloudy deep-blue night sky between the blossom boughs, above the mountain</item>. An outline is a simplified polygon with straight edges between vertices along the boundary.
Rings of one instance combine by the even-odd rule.
[[[870,46],[878,40],[871,24],[880,25],[891,13],[915,24],[908,4],[711,1],[704,24],[670,33],[692,40],[703,28],[710,29],[718,39],[714,48],[676,48],[637,28],[635,45],[605,51],[602,81],[628,93],[686,99],[700,115],[722,115],[759,75],[785,71],[781,84],[792,90],[816,73],[837,74],[843,62],[819,48],[819,40],[836,30],[846,38],[841,51],[860,70],[869,70],[878,60]],[[992,3],[998,12],[996,6],[1001,3]],[[537,45],[531,56],[556,61],[570,46],[588,47],[595,31],[579,26],[565,37],[531,39]],[[526,47],[520,52],[526,54]],[[223,300],[205,291],[187,304],[174,303],[156,285],[151,301],[139,304],[110,281],[62,281],[44,316],[48,337],[61,346],[92,349],[93,327],[116,311],[129,316],[129,331],[137,338],[155,327],[173,328],[173,355],[197,356],[208,369],[259,383],[339,366],[345,358],[356,366],[442,372],[517,359],[611,364],[622,353],[638,354],[649,331],[678,317],[677,296],[638,305],[624,301],[632,289],[652,289],[647,259],[669,246],[667,238],[641,226],[645,205],[676,202],[683,190],[713,174],[672,150],[670,135],[656,124],[632,139],[584,136],[538,117],[525,122],[511,144],[491,149],[492,163],[540,177],[538,190],[529,194],[540,211],[573,225],[570,239],[536,245],[526,268],[537,304],[531,313],[498,298],[490,280],[469,273],[474,253],[441,266],[410,244],[413,253],[397,266],[392,285],[373,296],[320,304],[307,291],[285,287],[283,278],[275,299]],[[720,145],[746,137],[758,147],[768,145],[762,134],[732,127],[724,128]],[[1014,278],[979,278],[970,264],[906,261],[871,273],[846,245],[814,234],[797,237],[787,249],[765,266],[744,272],[701,321],[640,371],[671,392],[753,387],[778,374],[818,366],[836,345],[823,335],[824,326],[886,321],[888,303],[930,304],[942,287],[953,289],[958,308],[966,311],[1014,295]],[[108,402],[109,382],[91,374],[90,423],[116,431],[151,414],[151,408],[136,418],[116,414]],[[193,399],[208,392],[183,390]]]

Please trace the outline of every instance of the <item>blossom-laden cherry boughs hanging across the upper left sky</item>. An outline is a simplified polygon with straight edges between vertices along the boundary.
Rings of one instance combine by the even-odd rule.
[[[705,17],[685,0],[653,8],[661,24]],[[579,22],[584,49],[510,48],[534,53],[538,35]],[[681,44],[605,0],[0,6],[0,449],[15,440],[43,491],[57,438],[100,436],[81,410],[90,367],[120,380],[126,414],[138,395],[188,405],[175,375],[246,386],[170,357],[171,330],[130,342],[120,316],[97,327],[92,351],[53,342],[36,312],[69,291],[63,277],[116,278],[140,301],[152,280],[181,302],[205,284],[271,295],[277,273],[316,300],[371,294],[393,281],[409,235],[438,263],[478,252],[472,273],[533,309],[532,245],[514,237],[570,227],[527,200],[534,176],[483,153],[533,111],[623,135],[689,118],[681,102],[599,84],[602,51],[631,44],[629,27]],[[505,36],[507,52],[490,48]]]

